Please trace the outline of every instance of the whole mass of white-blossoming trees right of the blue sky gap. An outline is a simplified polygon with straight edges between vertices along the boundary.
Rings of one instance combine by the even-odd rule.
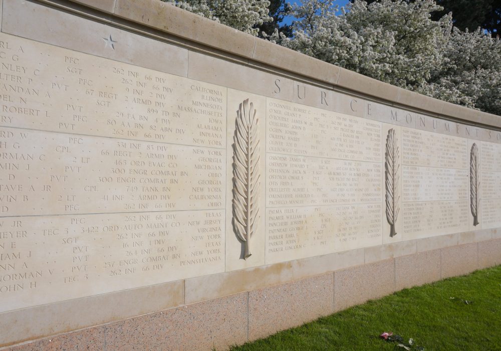
[[[462,32],[434,0],[332,0],[295,5],[293,36],[270,40],[320,60],[441,100],[501,114],[501,43]]]

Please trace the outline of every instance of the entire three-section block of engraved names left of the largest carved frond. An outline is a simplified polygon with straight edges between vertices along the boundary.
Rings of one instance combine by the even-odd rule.
[[[0,312],[223,272],[226,88],[1,37]]]

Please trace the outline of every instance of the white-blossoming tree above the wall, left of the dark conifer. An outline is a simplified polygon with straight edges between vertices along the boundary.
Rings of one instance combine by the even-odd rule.
[[[162,1],[255,36],[259,34],[259,26],[273,21],[268,0]]]

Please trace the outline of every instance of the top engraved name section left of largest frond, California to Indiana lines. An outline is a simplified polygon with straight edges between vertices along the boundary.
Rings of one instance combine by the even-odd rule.
[[[1,125],[224,148],[225,88],[14,38]]]

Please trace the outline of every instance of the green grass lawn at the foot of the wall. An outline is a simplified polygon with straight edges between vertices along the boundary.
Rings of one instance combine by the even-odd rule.
[[[501,350],[501,266],[401,290],[231,349],[404,350],[380,338],[384,331],[426,350]]]

